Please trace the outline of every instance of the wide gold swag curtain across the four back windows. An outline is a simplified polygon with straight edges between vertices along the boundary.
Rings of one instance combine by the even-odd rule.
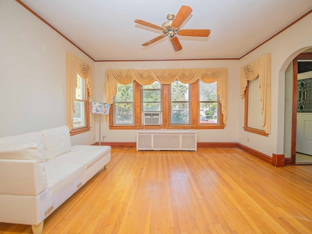
[[[193,68],[193,69],[152,69],[152,70],[107,70],[105,75],[105,94],[107,103],[113,103],[117,94],[117,83],[129,84],[137,81],[140,85],[152,84],[159,81],[162,84],[171,84],[175,80],[192,84],[196,80],[204,83],[217,81],[217,94],[222,105],[223,122],[227,123],[227,95],[228,70],[227,68]]]

